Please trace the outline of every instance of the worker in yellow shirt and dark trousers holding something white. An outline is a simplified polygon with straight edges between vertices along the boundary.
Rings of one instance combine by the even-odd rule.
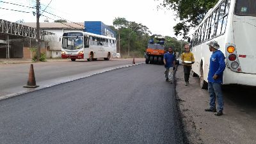
[[[195,58],[194,58],[193,53],[189,51],[188,44],[184,46],[184,49],[185,49],[185,52],[182,53],[181,60],[183,63],[183,68],[184,68],[185,85],[188,86],[191,66],[193,63],[195,63]]]

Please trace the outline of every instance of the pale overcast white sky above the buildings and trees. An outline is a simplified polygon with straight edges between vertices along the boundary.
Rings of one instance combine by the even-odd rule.
[[[20,10],[24,12],[13,12],[11,10],[0,9],[0,19],[15,22],[17,20],[24,20],[25,22],[36,22],[36,17],[32,12],[35,9],[24,6],[35,6],[36,0],[3,0],[0,2],[0,8],[8,8],[13,10]],[[40,0],[42,4],[41,10],[50,3],[51,0]],[[160,0],[162,2],[163,0]],[[57,20],[61,18],[70,20],[72,22],[84,21],[102,21],[104,24],[113,25],[115,17],[124,17],[126,20],[141,23],[147,26],[152,34],[163,36],[175,36],[173,33],[173,26],[175,16],[170,10],[157,10],[159,1],[154,0],[52,0],[46,8],[46,12],[42,13],[52,19]],[[22,6],[15,6],[14,4]],[[55,17],[54,15],[58,16]],[[46,17],[40,17],[40,22],[44,22]],[[180,39],[180,38],[179,38]]]

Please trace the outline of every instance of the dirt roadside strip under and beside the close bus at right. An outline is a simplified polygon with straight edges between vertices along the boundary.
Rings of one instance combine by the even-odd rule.
[[[176,79],[179,107],[189,143],[256,143],[255,88],[225,88],[224,114],[215,116],[204,111],[209,108],[209,93],[200,88],[198,77],[190,76],[190,84],[185,86],[180,65]]]

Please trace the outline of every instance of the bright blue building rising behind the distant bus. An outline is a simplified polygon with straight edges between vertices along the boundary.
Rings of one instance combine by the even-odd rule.
[[[101,21],[84,21],[84,31],[97,35],[116,37],[115,31]]]

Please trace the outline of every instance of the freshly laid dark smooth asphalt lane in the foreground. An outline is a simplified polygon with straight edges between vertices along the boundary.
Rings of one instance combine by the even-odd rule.
[[[120,68],[0,101],[1,143],[184,143],[163,65]]]

